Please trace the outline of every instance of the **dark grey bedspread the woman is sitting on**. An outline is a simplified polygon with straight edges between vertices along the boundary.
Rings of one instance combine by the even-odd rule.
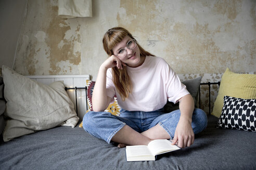
[[[206,130],[191,147],[158,155],[156,161],[126,162],[125,148],[82,128],[59,126],[0,143],[0,169],[256,169],[256,133]]]

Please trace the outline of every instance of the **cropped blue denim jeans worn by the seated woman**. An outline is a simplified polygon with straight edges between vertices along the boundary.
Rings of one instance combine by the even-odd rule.
[[[162,109],[150,112],[121,109],[120,116],[114,116],[104,111],[89,111],[84,115],[83,128],[89,134],[110,143],[111,138],[124,125],[128,125],[135,131],[142,133],[159,123],[168,132],[170,138],[173,139],[180,116],[180,110],[174,110],[166,114],[162,112]],[[201,109],[195,108],[191,125],[195,134],[205,129],[207,126],[206,113]]]

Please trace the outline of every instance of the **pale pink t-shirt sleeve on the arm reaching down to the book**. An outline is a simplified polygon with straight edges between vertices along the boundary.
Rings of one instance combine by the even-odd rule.
[[[177,103],[180,98],[189,94],[186,86],[181,82],[174,70],[169,66],[167,68],[166,92],[169,102]]]

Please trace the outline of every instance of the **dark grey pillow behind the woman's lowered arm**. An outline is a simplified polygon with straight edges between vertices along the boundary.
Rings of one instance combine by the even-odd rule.
[[[199,77],[197,77],[195,79],[182,81],[182,83],[186,86],[187,91],[193,97],[194,102],[195,102],[195,107],[198,107],[197,106],[197,103],[198,103],[198,90],[200,88],[201,79],[202,79],[202,77],[199,76]],[[172,102],[167,101],[167,104],[163,107],[164,112],[171,112],[171,111],[179,109],[178,104],[179,103],[174,104]]]

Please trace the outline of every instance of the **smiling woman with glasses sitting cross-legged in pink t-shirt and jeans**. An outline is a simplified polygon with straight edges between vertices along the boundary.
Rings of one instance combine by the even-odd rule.
[[[122,27],[108,30],[103,46],[109,58],[96,79],[93,110],[83,118],[84,130],[107,141],[147,145],[154,139],[172,139],[184,148],[207,126],[206,114],[194,109],[194,100],[172,68],[162,58],[140,47]],[[120,116],[104,112],[117,96]],[[180,102],[180,109],[165,114],[167,100]]]

